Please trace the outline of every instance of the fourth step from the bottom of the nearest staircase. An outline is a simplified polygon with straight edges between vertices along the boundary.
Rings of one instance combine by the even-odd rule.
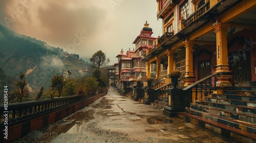
[[[224,103],[216,103],[216,102],[210,102],[210,101],[196,101],[198,104],[202,105],[208,105],[211,107],[218,107],[222,109],[227,109],[230,111],[241,111],[245,113],[256,113],[256,107],[250,107],[250,106],[241,106],[241,105],[232,105],[232,104],[224,104]]]

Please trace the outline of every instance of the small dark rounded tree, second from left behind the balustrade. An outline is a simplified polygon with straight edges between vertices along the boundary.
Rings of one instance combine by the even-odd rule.
[[[60,97],[63,86],[65,85],[65,79],[64,79],[63,75],[61,75],[61,76],[59,74],[53,75],[51,83],[52,83],[52,85],[50,87],[52,87],[52,89],[53,89],[53,94],[52,94],[51,98],[54,97],[54,94],[56,91],[58,91],[58,97]]]

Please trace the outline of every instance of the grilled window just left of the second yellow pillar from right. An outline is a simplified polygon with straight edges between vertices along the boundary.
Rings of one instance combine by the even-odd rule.
[[[185,50],[177,54],[176,70],[180,70],[181,76],[183,76],[186,71],[186,51]],[[179,86],[183,86],[183,85],[184,85],[184,80],[181,80],[179,82]]]

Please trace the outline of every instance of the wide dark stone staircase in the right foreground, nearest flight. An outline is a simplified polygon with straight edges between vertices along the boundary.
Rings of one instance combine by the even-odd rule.
[[[190,104],[180,118],[239,142],[256,142],[256,90],[234,88]]]

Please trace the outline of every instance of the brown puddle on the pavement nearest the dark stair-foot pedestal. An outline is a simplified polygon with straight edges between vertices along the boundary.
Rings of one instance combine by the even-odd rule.
[[[165,116],[137,115],[149,124],[168,124],[174,123],[174,120]]]

